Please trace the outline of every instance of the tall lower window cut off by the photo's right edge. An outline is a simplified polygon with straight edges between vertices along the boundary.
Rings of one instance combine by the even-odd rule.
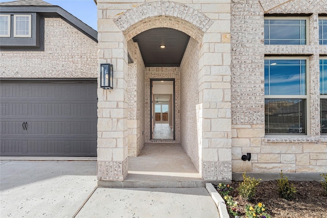
[[[320,65],[320,133],[327,133],[327,58]]]

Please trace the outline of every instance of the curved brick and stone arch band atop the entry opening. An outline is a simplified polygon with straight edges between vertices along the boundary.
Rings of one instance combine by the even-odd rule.
[[[213,24],[213,20],[190,6],[166,1],[145,3],[130,9],[114,22],[124,32],[127,41],[141,32],[159,27],[179,30],[199,41]]]

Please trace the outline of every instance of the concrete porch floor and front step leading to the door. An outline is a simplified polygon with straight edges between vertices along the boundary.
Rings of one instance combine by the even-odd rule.
[[[204,187],[199,172],[179,143],[145,143],[128,157],[124,181],[98,181],[99,187]]]

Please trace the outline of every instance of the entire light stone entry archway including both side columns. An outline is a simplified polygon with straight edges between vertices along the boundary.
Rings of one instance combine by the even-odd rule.
[[[201,8],[199,4],[194,6]],[[231,179],[229,20],[221,21],[216,18],[216,27],[211,28],[215,21],[190,5],[168,1],[139,6],[130,4],[129,10],[116,14],[119,15],[118,18],[107,18],[114,17],[110,14],[111,4],[98,3],[98,14],[102,14],[100,19],[102,16],[105,23],[112,27],[99,30],[99,63],[112,62],[115,72],[114,89],[110,91],[98,89],[99,180],[124,180],[127,176],[128,124],[132,123],[128,120],[126,98],[129,80],[128,43],[137,34],[159,27],[176,29],[190,35],[193,38],[192,47],[197,49],[195,63],[196,80],[199,84],[196,88],[199,98],[194,105],[197,119],[197,129],[194,132],[199,135],[196,141],[199,148],[194,149],[198,150],[196,167],[203,179]],[[211,3],[205,4],[205,7],[210,8]],[[230,10],[230,4],[225,4],[224,7]],[[105,10],[102,10],[103,8]],[[113,10],[112,13],[115,12],[117,10]],[[220,43],[225,44],[220,46]],[[218,52],[214,51],[214,47],[209,49],[209,44],[214,47],[217,44]],[[111,122],[111,130],[102,125],[104,122]],[[218,130],[217,127],[223,129]]]

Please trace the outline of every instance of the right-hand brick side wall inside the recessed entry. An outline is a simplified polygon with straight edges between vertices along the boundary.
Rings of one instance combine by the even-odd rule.
[[[199,45],[190,38],[180,64],[180,143],[199,170],[199,133],[196,107],[199,104]],[[201,133],[200,133],[201,134]]]

